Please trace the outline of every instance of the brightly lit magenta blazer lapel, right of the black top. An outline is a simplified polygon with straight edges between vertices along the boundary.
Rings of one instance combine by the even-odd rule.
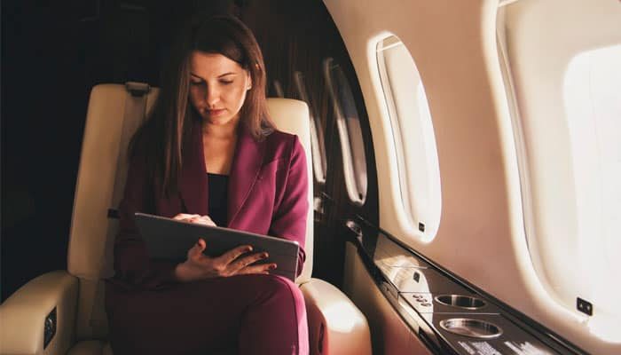
[[[228,225],[231,226],[240,213],[248,195],[259,177],[265,154],[264,141],[258,142],[248,129],[240,125],[239,137],[229,175]]]

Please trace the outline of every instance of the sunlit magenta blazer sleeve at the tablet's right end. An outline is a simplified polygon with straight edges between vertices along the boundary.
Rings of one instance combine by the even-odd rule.
[[[287,178],[271,220],[270,235],[298,242],[300,252],[297,260],[297,274],[300,275],[306,259],[304,247],[309,210],[309,177],[304,148],[297,136],[293,136],[292,140]]]

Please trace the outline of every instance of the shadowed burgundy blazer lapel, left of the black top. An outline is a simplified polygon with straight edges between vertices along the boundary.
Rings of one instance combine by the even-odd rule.
[[[179,176],[179,194],[187,213],[208,213],[208,181],[202,148],[200,123],[195,123],[190,144],[184,152],[184,162]]]

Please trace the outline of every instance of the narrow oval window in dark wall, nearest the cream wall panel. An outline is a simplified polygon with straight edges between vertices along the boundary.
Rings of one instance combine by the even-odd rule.
[[[366,155],[356,102],[345,73],[334,59],[324,60],[327,91],[334,106],[336,126],[341,141],[345,186],[350,201],[357,205],[366,200]]]

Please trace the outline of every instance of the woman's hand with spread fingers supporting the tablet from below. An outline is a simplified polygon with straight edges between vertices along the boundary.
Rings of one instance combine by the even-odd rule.
[[[187,260],[177,264],[175,276],[181,282],[205,280],[214,277],[228,277],[248,273],[269,273],[276,264],[254,264],[268,256],[267,253],[245,254],[252,251],[249,245],[233,248],[222,256],[209,257],[203,254],[207,243],[200,239],[187,252]]]

